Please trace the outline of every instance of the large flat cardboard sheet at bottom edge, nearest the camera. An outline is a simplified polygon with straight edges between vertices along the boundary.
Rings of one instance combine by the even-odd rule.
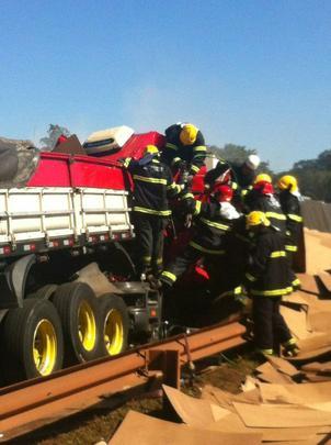
[[[255,445],[261,443],[261,434],[222,433],[199,430],[192,426],[166,422],[160,419],[129,411],[110,441],[110,445]]]

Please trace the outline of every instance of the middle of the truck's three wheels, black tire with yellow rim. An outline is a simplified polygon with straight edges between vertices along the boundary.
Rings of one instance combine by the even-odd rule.
[[[93,290],[84,282],[59,286],[52,299],[65,337],[65,363],[84,363],[99,356],[99,308]]]

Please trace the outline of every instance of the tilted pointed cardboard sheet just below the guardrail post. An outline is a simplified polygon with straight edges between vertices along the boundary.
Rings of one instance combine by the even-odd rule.
[[[228,415],[230,411],[207,400],[184,394],[178,389],[162,385],[163,391],[180,419],[191,426],[204,427]],[[212,409],[213,405],[213,409]]]

